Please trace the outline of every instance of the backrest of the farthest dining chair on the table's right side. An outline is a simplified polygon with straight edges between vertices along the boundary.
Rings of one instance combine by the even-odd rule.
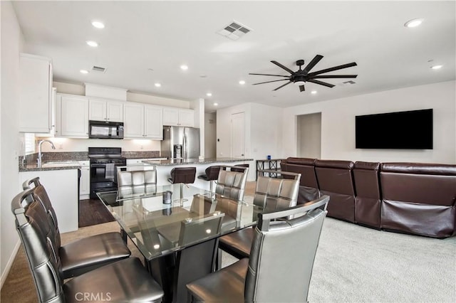
[[[234,166],[220,167],[215,193],[232,198],[233,200],[242,201],[244,199],[249,168],[239,166],[237,169],[243,171],[232,171],[232,167]]]

